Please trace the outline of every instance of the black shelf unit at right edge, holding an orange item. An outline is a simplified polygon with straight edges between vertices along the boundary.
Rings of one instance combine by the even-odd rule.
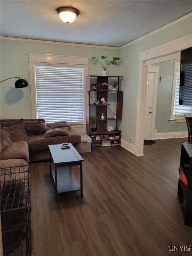
[[[184,173],[188,185],[178,182],[178,198],[184,224],[192,225],[192,143],[182,143],[179,173]]]

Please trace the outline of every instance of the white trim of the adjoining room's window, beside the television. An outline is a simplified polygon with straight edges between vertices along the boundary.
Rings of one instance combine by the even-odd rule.
[[[170,113],[170,123],[183,123],[185,122],[185,119],[175,119],[173,116],[173,110],[174,110],[174,103],[175,103],[175,88],[176,88],[176,78],[177,78],[177,72],[180,71],[180,62],[174,63],[174,72],[173,72],[173,86],[172,86],[172,97],[171,97],[171,113]]]

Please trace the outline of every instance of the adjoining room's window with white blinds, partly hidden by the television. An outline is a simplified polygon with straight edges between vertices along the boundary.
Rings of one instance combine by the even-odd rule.
[[[184,120],[184,114],[191,114],[192,107],[179,105],[179,83],[180,83],[180,63],[175,62],[173,75],[173,91],[172,91],[172,106],[171,120]]]

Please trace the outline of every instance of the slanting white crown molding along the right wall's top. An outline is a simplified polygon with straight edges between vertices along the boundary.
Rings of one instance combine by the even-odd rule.
[[[190,17],[192,17],[192,12],[190,12],[190,13],[188,13],[188,14],[186,14],[186,15],[184,15],[184,16],[182,16],[182,17],[180,17],[180,18],[178,18],[178,19],[176,19],[176,20],[174,20],[174,21],[172,21],[172,22],[170,22],[170,23],[168,23],[168,24],[158,28],[158,29],[153,30],[153,31],[151,31],[150,33],[148,33],[148,34],[146,34],[144,36],[141,36],[141,37],[139,37],[139,38],[137,38],[137,39],[127,43],[127,44],[124,44],[124,45],[120,46],[119,49],[123,49],[123,48],[125,48],[128,45],[134,44],[134,43],[136,43],[136,42],[138,42],[138,41],[140,41],[140,40],[142,40],[144,38],[147,38],[148,36],[151,36],[151,35],[159,32],[159,31],[162,31],[162,30],[164,30],[164,29],[166,29],[168,27],[171,27],[171,26],[177,24],[178,22],[180,22],[182,20],[185,20],[185,19],[188,19]]]

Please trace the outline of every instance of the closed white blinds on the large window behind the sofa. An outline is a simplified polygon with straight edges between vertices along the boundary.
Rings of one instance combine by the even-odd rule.
[[[83,68],[35,66],[37,117],[83,122]]]

